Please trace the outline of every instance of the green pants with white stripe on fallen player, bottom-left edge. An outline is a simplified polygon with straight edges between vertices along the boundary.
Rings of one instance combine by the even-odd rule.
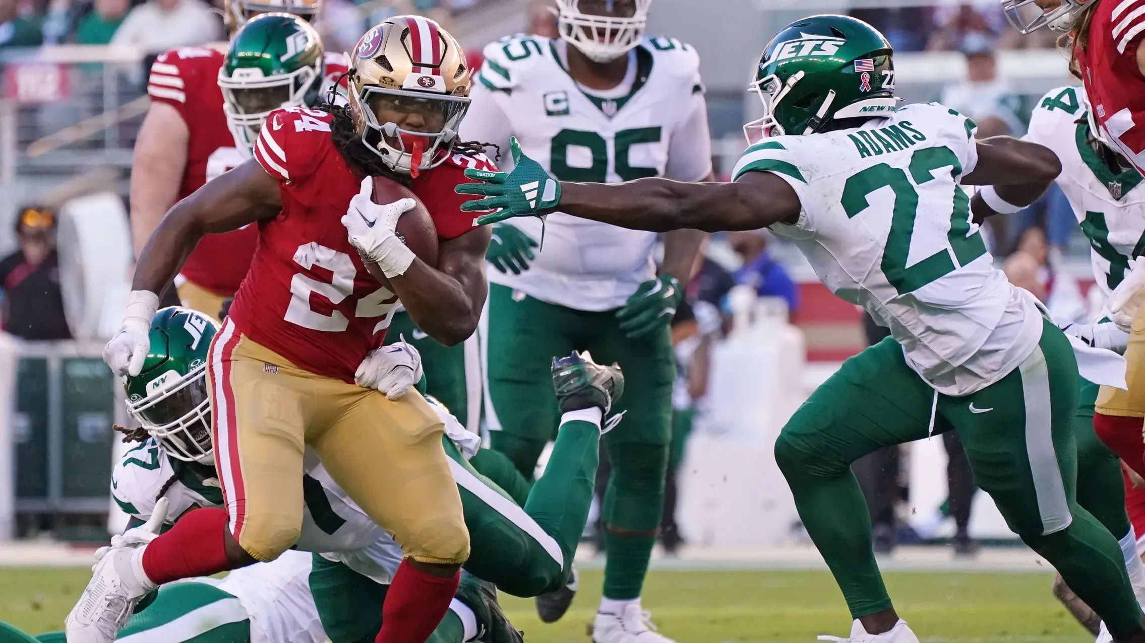
[[[2,640],[2,638],[0,638]],[[63,632],[37,636],[64,643]],[[132,614],[118,643],[250,643],[251,621],[234,595],[207,582],[165,585],[147,608]]]

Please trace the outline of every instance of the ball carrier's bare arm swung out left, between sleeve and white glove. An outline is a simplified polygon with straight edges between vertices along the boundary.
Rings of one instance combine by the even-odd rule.
[[[204,235],[230,232],[282,209],[278,182],[254,159],[219,176],[164,215],[135,264],[132,288],[159,293]]]

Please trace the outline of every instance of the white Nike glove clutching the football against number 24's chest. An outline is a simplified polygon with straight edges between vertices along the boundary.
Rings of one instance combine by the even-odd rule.
[[[362,190],[350,199],[350,207],[342,216],[342,225],[349,235],[350,245],[366,261],[381,268],[386,277],[404,275],[413,263],[413,251],[397,238],[394,229],[397,219],[417,207],[413,199],[398,199],[392,204],[378,205],[370,200],[373,195],[373,178],[362,180]]]

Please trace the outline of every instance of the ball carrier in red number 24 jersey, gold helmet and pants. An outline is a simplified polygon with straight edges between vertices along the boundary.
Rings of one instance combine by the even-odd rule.
[[[480,145],[457,143],[469,70],[435,23],[387,19],[363,37],[353,66],[348,108],[271,112],[255,158],[176,204],[140,256],[123,326],[104,349],[121,375],[143,367],[158,292],[199,239],[259,228],[207,364],[226,508],[198,509],[150,543],[104,556],[68,617],[69,641],[111,641],[159,584],[273,559],[294,545],[307,447],[405,550],[377,641],[425,641],[449,606],[468,533],[441,420],[417,392],[389,400],[356,386],[355,372],[381,346],[398,297],[443,344],[475,330],[489,230],[460,211],[452,185],[468,182],[465,168],[491,164]],[[376,175],[409,185],[432,213],[436,267],[397,240],[412,199],[371,203]]]

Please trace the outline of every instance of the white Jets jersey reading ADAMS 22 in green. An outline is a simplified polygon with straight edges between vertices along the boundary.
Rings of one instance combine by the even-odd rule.
[[[795,189],[798,222],[772,230],[951,396],[1005,376],[1042,335],[1033,295],[994,268],[957,184],[978,162],[974,129],[938,103],[909,105],[858,129],[766,138],[733,173],[771,172]]]

